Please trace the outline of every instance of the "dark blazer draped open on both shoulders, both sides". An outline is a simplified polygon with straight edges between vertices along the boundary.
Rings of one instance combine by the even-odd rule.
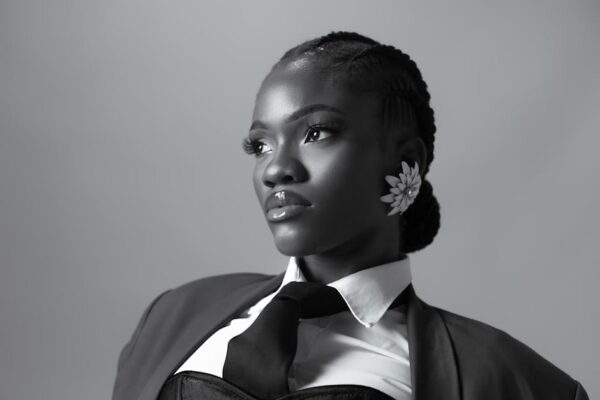
[[[158,296],[121,351],[113,400],[155,400],[202,342],[282,279],[219,275]],[[426,304],[412,285],[406,290],[413,399],[588,400],[579,382],[509,334]]]

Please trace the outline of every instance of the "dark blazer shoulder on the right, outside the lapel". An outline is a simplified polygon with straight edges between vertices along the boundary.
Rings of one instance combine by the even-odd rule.
[[[502,329],[437,308],[454,346],[465,390],[478,392],[496,381],[511,398],[585,399],[579,382]],[[468,377],[487,382],[468,382]],[[480,385],[482,387],[480,387]],[[505,390],[505,389],[499,389]]]

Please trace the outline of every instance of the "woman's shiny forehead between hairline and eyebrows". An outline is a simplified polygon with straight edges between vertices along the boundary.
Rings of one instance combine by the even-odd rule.
[[[278,123],[294,111],[325,104],[353,118],[377,118],[376,96],[350,90],[331,72],[303,62],[276,67],[263,81],[256,96],[254,120]]]

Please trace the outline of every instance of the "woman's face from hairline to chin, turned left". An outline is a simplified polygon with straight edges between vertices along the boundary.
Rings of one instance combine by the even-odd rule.
[[[390,223],[378,104],[306,65],[263,82],[249,134],[254,188],[281,253],[335,252]]]

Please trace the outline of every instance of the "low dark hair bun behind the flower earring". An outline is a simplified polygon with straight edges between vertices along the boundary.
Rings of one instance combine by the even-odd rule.
[[[440,204],[428,180],[423,179],[419,195],[402,215],[406,221],[402,235],[403,252],[421,250],[433,242],[440,229]]]

